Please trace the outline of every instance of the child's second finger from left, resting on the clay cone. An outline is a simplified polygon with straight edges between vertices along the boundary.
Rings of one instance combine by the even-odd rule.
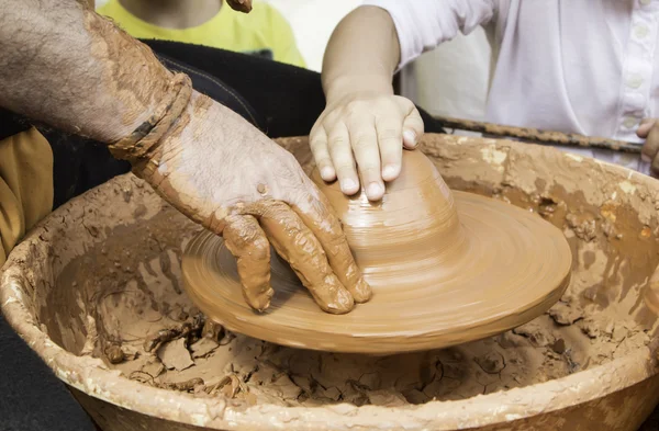
[[[344,123],[338,123],[330,131],[327,144],[340,190],[347,195],[357,193],[359,191],[359,179],[355,169],[350,135]]]

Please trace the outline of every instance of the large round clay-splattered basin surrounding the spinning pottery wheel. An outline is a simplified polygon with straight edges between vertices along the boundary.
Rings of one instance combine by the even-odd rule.
[[[281,144],[311,172],[305,139]],[[180,253],[199,228],[124,175],[27,235],[3,266],[2,311],[103,430],[636,430],[659,401],[657,319],[641,300],[659,183],[505,140],[427,136],[421,150],[451,189],[562,229],[573,265],[560,303],[496,337],[387,358],[231,333],[203,354],[182,339],[148,353],[146,337],[197,315]],[[191,378],[204,384],[166,388]]]

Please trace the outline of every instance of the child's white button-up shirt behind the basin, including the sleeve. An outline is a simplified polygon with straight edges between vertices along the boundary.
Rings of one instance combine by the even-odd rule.
[[[424,52],[492,31],[498,53],[487,121],[643,144],[659,116],[659,0],[367,0],[392,16],[401,67]],[[442,77],[438,77],[442,79]],[[468,91],[468,89],[466,89]],[[647,171],[639,157],[576,152]]]

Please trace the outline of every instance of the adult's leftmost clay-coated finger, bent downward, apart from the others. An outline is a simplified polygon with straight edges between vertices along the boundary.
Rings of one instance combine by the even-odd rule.
[[[270,243],[256,218],[234,215],[226,218],[224,243],[236,258],[243,295],[247,304],[264,311],[270,306]]]

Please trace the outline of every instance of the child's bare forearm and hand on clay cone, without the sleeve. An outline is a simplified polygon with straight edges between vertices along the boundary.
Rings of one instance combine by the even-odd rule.
[[[399,58],[393,21],[376,7],[362,7],[346,16],[325,52],[327,105],[310,143],[321,177],[325,181],[338,177],[346,194],[359,190],[356,161],[368,197],[382,197],[382,179],[393,180],[400,172],[403,127],[409,148],[423,134],[414,104],[393,95],[391,79]]]

